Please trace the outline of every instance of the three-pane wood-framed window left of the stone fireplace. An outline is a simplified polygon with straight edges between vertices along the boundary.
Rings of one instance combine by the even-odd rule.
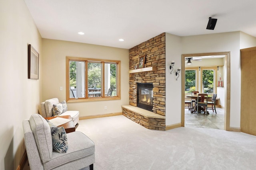
[[[66,100],[120,99],[120,61],[66,57]]]

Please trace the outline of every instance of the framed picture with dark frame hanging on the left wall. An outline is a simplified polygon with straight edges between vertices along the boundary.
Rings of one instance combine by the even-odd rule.
[[[31,44],[28,45],[28,78],[38,80],[39,73],[39,53],[32,47]]]

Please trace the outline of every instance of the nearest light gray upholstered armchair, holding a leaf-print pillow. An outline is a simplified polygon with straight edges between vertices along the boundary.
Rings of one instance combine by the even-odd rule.
[[[67,133],[68,150],[59,153],[53,150],[52,134],[47,121],[39,114],[23,120],[23,131],[31,170],[80,170],[95,162],[95,145],[82,132]]]

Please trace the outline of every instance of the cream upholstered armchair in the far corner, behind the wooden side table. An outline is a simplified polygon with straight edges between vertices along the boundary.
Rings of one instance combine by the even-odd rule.
[[[53,116],[53,110],[52,107],[54,104],[59,104],[58,98],[52,98],[49,100],[46,100],[45,102],[41,103],[41,112],[39,111],[40,115],[42,117],[52,117]],[[79,111],[66,111],[62,113],[60,116],[64,115],[70,115],[74,125],[76,125],[79,121]]]

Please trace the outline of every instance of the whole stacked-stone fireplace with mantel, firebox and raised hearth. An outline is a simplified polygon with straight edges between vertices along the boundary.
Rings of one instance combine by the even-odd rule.
[[[146,58],[144,68],[134,69],[141,56]],[[148,129],[164,131],[166,128],[165,61],[165,33],[129,49],[129,105],[122,106],[122,113]],[[137,88],[141,84],[150,84],[152,88]],[[145,103],[150,103],[149,109],[140,108],[140,105]]]

